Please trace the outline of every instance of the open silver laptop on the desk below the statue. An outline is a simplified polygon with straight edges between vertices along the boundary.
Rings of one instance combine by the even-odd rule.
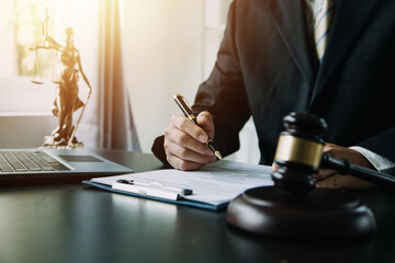
[[[0,186],[77,182],[131,172],[86,150],[0,149]]]

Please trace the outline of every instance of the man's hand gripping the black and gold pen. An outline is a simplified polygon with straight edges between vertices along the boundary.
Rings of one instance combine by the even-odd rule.
[[[208,136],[214,137],[213,117],[208,112],[201,112],[196,121],[202,128],[184,115],[173,115],[165,129],[167,161],[176,169],[198,170],[216,160],[205,144]]]

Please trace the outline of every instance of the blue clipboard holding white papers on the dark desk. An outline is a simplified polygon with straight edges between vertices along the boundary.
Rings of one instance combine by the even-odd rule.
[[[246,190],[273,185],[271,167],[221,161],[199,171],[162,169],[93,178],[83,184],[109,192],[208,210],[224,210]]]

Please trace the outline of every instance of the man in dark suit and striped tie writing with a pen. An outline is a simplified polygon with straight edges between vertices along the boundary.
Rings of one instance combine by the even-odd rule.
[[[154,153],[177,169],[199,169],[216,159],[203,144],[207,136],[229,155],[252,115],[260,163],[270,164],[282,118],[308,112],[328,123],[325,151],[371,169],[393,167],[395,1],[335,1],[321,60],[314,37],[316,1],[235,0],[214,70],[193,105],[202,128],[173,116],[165,139],[156,141],[165,152],[154,146]],[[370,186],[329,170],[315,178],[321,187]]]

